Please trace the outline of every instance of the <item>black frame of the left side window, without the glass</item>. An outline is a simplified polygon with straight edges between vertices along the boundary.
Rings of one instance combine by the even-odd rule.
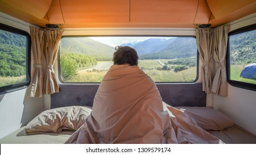
[[[6,94],[8,92],[12,92],[12,91],[17,91],[17,90],[21,90],[24,89],[24,87],[28,87],[28,85],[30,84],[30,68],[31,68],[31,37],[30,34],[24,30],[18,29],[18,28],[14,28],[11,27],[9,25],[6,24],[2,24],[0,23],[0,29],[5,30],[7,32],[11,32],[11,33],[16,33],[16,34],[20,34],[20,35],[24,35],[27,38],[27,47],[26,47],[26,81],[24,82],[20,82],[18,84],[12,84],[12,85],[7,85],[7,86],[2,86],[0,87],[0,94]]]

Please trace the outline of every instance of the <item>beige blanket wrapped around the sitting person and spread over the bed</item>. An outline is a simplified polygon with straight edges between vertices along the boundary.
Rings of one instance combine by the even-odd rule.
[[[91,115],[66,143],[219,143],[219,139],[181,111],[163,106],[156,85],[137,66],[113,65],[95,95]]]

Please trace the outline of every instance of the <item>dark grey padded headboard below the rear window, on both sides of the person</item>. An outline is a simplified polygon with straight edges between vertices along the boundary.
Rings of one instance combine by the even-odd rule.
[[[162,100],[171,106],[206,106],[202,84],[156,84]],[[51,108],[93,106],[99,84],[61,84],[59,92],[50,95]]]

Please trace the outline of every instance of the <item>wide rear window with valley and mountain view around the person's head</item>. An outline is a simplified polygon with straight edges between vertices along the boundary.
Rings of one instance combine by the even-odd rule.
[[[197,80],[196,38],[166,36],[63,37],[60,42],[62,82],[101,82],[113,64],[115,46],[131,46],[139,67],[155,82]]]

